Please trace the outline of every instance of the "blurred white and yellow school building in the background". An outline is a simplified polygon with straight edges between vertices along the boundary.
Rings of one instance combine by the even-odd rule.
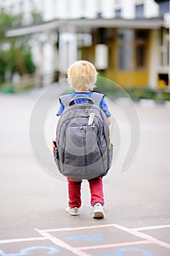
[[[123,87],[170,83],[170,6],[154,0],[7,0],[1,9],[23,12],[26,26],[7,37],[31,35],[38,72],[60,72],[79,59]],[[42,14],[32,23],[30,13]]]

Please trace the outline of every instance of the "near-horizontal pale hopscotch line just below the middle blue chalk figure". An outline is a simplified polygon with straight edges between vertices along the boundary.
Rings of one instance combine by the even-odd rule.
[[[151,241],[144,240],[144,241],[134,241],[129,243],[118,243],[118,244],[101,244],[96,246],[82,246],[82,247],[76,247],[77,249],[103,249],[103,248],[112,248],[112,247],[120,247],[120,246],[131,246],[131,245],[138,245],[138,244],[152,244]]]

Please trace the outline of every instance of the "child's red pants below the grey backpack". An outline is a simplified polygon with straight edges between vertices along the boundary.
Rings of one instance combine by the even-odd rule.
[[[82,181],[74,181],[72,178],[67,178],[69,188],[69,206],[80,207],[81,201],[81,184]],[[94,203],[101,203],[104,205],[104,192],[102,177],[93,181],[88,181],[90,187],[91,200],[90,203],[93,206]]]

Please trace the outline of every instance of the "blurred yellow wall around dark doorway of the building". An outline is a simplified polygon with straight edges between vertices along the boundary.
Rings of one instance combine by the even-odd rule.
[[[112,33],[116,35],[116,29],[112,29]],[[93,45],[90,48],[82,48],[82,59],[87,59],[94,63],[95,45],[97,45],[97,40],[93,41]],[[120,86],[125,88],[130,87],[145,87],[148,86],[149,80],[149,67],[150,67],[150,52],[152,49],[152,41],[150,39],[150,30],[147,33],[147,43],[146,43],[146,60],[144,70],[120,70],[118,69],[118,53],[117,45],[119,44],[116,36],[112,40],[106,42],[109,48],[109,67],[104,72],[99,71],[99,75],[102,75],[110,80],[115,81]],[[135,51],[135,49],[134,49]]]

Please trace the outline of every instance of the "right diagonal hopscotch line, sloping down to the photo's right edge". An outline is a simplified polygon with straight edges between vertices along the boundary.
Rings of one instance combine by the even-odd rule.
[[[166,244],[165,242],[163,241],[160,241],[156,238],[153,238],[152,236],[148,236],[144,233],[140,233],[139,231],[136,231],[136,230],[133,230],[133,229],[129,229],[127,227],[123,227],[123,226],[120,226],[120,225],[114,225],[114,227],[117,227],[119,230],[123,230],[125,232],[128,232],[130,233],[131,235],[134,235],[134,236],[137,236],[139,238],[143,238],[144,240],[148,240],[150,242],[152,242],[152,244],[158,244],[159,246],[162,246],[162,247],[165,247],[167,249],[170,249],[170,244]]]

